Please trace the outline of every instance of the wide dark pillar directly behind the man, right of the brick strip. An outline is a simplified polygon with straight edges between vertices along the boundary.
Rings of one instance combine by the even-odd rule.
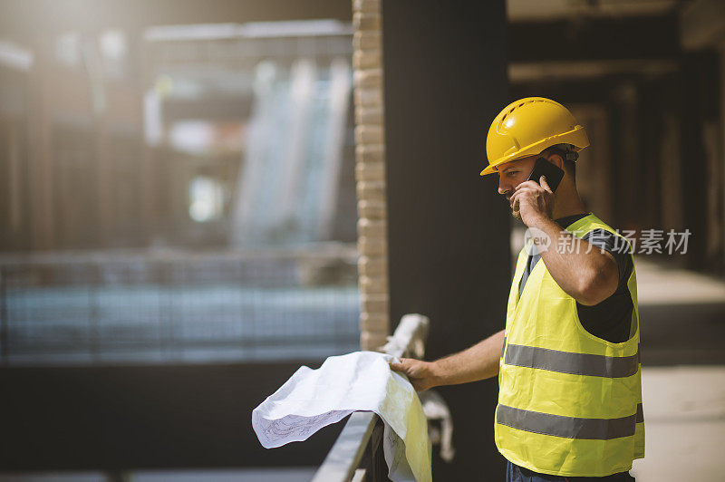
[[[356,14],[359,24],[380,21]],[[429,359],[505,325],[511,217],[498,178],[478,173],[491,120],[510,101],[506,23],[503,0],[382,0],[384,129],[374,139],[384,151],[370,153],[384,152],[385,178],[362,192],[387,205],[379,232],[388,229],[390,320],[429,316]],[[359,65],[374,64],[363,55]],[[378,92],[362,90],[357,101],[377,105]],[[434,479],[502,480],[493,441],[498,382],[439,390],[453,416],[456,458],[448,464],[434,450]]]

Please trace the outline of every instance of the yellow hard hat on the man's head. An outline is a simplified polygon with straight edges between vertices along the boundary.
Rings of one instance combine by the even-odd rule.
[[[575,152],[589,145],[584,127],[576,123],[568,109],[544,97],[511,102],[488,129],[488,167],[481,176],[496,172],[498,164],[536,156],[556,144],[571,144]]]

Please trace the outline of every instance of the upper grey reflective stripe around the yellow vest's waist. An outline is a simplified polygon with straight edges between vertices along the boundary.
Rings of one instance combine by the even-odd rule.
[[[604,356],[586,353],[559,352],[547,348],[508,344],[507,365],[538,368],[573,375],[622,378],[632,376],[639,368],[639,352],[632,356]]]

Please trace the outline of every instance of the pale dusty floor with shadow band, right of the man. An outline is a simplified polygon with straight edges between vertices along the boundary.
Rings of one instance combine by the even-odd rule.
[[[725,480],[725,283],[643,259],[637,275],[646,446],[632,474]]]

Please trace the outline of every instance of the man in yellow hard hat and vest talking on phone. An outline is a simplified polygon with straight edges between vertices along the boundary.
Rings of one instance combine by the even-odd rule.
[[[498,374],[494,433],[510,482],[633,480],[632,461],[644,456],[633,256],[579,197],[575,162],[588,145],[556,101],[521,99],[498,114],[481,175],[498,173],[498,193],[533,233],[506,328],[436,362],[391,363],[416,390]],[[556,189],[546,176],[527,180],[539,158],[564,171]]]

